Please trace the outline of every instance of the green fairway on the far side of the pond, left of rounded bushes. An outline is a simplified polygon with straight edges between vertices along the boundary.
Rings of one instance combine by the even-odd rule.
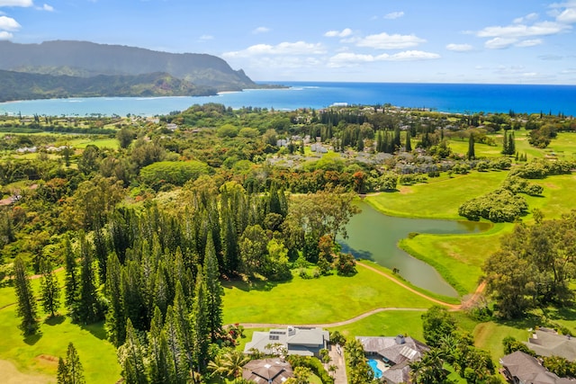
[[[401,217],[463,219],[458,207],[473,197],[500,186],[508,172],[472,172],[453,178],[429,179],[428,183],[399,185],[400,192],[382,192],[366,197],[376,210]]]

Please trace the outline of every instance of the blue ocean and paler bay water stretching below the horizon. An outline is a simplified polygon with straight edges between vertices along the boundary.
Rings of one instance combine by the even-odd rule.
[[[335,103],[426,108],[438,112],[527,112],[576,115],[576,85],[263,82],[284,89],[246,90],[207,97],[95,97],[0,103],[1,114],[154,116],[193,104],[293,111]]]

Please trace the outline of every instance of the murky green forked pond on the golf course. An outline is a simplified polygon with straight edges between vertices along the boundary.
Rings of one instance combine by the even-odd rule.
[[[473,221],[407,219],[383,215],[371,205],[360,201],[362,210],[347,225],[348,238],[338,239],[342,251],[356,258],[372,260],[386,268],[398,268],[400,275],[412,284],[446,296],[458,293],[440,274],[398,247],[398,242],[410,232],[428,234],[477,233],[491,227],[489,223]]]

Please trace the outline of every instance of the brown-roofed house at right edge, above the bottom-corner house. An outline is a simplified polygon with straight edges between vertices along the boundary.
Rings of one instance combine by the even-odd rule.
[[[536,329],[525,344],[540,356],[560,356],[576,361],[576,339],[571,335],[558,335],[554,329]]]

